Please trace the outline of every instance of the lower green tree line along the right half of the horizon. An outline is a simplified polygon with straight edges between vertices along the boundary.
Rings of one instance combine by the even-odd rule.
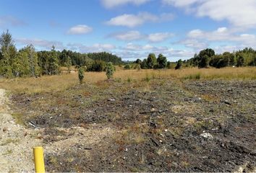
[[[223,68],[227,66],[256,66],[256,50],[252,48],[244,48],[236,52],[225,52],[216,54],[213,49],[207,48],[201,50],[199,54],[195,54],[193,58],[182,61],[181,59],[176,62],[167,61],[163,54],[159,54],[156,58],[154,53],[150,53],[148,58],[143,61],[137,59],[132,63],[127,63],[124,69],[159,69],[159,68],[175,68],[179,69],[184,67],[198,67],[198,68]]]

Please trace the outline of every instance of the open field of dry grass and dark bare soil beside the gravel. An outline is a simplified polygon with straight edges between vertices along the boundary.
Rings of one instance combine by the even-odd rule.
[[[48,172],[253,172],[256,68],[0,79]]]

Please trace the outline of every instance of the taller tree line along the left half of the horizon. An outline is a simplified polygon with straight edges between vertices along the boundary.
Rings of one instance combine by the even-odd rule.
[[[121,58],[111,53],[77,53],[72,50],[36,51],[33,45],[17,50],[12,35],[7,30],[0,36],[0,75],[40,76],[61,73],[61,66],[85,67],[87,71],[106,71],[107,62],[122,64]]]

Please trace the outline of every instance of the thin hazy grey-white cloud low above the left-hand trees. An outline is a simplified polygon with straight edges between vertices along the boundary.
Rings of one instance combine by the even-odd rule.
[[[49,41],[49,40],[41,40],[41,39],[28,39],[28,38],[17,38],[14,41],[20,45],[34,45],[35,47],[43,48],[43,49],[51,49],[54,45],[56,49],[64,49],[63,43],[59,41]]]

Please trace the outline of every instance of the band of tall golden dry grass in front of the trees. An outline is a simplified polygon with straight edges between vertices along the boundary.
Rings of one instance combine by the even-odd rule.
[[[200,77],[199,77],[200,76]],[[150,81],[150,79],[256,79],[255,67],[244,68],[184,68],[175,71],[168,70],[118,70],[114,79],[119,81]],[[85,83],[95,84],[106,80],[105,72],[85,73]],[[77,74],[62,74],[60,76],[43,76],[35,78],[0,79],[0,88],[11,92],[58,92],[79,84]]]

